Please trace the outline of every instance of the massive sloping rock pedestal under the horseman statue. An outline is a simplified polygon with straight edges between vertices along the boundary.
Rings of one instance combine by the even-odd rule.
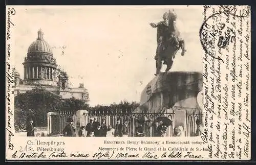
[[[192,98],[197,98],[202,90],[202,84],[203,77],[199,72],[160,73],[143,89],[140,109],[144,112],[161,113],[164,107],[172,108],[175,103],[182,100],[186,100],[188,105],[197,104]],[[189,100],[191,103],[187,102]]]

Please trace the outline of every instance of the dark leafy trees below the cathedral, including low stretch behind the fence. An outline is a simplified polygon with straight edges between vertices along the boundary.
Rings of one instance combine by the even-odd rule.
[[[36,127],[47,126],[47,113],[54,111],[76,111],[88,109],[87,101],[75,98],[62,100],[57,94],[44,89],[19,93],[14,99],[15,129],[24,129],[28,118]]]

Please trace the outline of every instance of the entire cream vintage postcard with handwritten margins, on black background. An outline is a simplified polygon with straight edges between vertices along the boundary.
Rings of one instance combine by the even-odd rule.
[[[190,143],[207,153],[169,157],[232,159],[236,148],[249,158],[249,14],[236,5],[7,7],[9,147],[12,136],[27,145],[158,140],[163,148],[143,150]],[[151,154],[142,158],[165,156]]]

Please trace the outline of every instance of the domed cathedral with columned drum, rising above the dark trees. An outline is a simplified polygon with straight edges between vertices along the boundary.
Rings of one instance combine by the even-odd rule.
[[[57,62],[53,56],[51,46],[44,40],[41,29],[37,38],[28,48],[27,57],[23,62],[24,79],[15,72],[15,96],[36,88],[45,89],[62,99],[76,98],[88,100],[89,93],[83,84],[77,88],[68,85],[68,75],[63,70],[57,69]]]

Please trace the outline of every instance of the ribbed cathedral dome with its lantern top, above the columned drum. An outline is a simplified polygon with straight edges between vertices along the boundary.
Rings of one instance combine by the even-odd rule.
[[[44,40],[44,33],[41,29],[37,32],[37,39],[31,43],[28,53],[44,52],[52,54],[50,45]]]

